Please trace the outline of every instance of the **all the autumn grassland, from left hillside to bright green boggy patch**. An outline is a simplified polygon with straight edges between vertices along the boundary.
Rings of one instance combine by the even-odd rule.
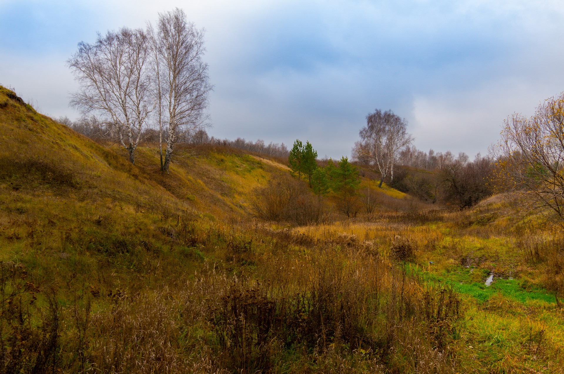
[[[274,159],[186,148],[162,174],[1,87],[0,129],[0,372],[562,372],[564,240],[501,197],[365,178],[374,212],[329,197],[292,227],[249,214]]]

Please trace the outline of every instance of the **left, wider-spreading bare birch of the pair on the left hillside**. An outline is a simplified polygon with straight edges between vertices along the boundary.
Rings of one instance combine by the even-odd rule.
[[[148,38],[140,29],[108,31],[94,44],[78,43],[78,51],[67,61],[80,83],[70,105],[83,115],[94,115],[109,135],[129,152],[135,149],[151,112],[149,104]]]

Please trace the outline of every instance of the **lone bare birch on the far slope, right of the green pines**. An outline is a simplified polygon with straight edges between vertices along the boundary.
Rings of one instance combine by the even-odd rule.
[[[405,119],[394,114],[391,110],[382,112],[376,109],[366,117],[366,126],[360,132],[360,141],[352,149],[355,159],[368,163],[380,172],[380,184],[389,175],[394,180],[396,159],[403,148],[413,141],[413,136],[407,132]]]

